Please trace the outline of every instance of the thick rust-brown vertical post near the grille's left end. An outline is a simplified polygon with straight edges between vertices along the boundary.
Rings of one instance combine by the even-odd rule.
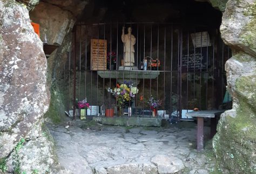
[[[74,57],[73,57],[73,120],[75,120],[75,114],[76,114],[76,33],[77,33],[77,28],[75,26],[75,33],[74,33]]]

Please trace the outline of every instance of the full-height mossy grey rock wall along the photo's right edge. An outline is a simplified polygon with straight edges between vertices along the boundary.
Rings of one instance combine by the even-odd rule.
[[[233,109],[221,115],[214,151],[224,170],[256,172],[256,1],[228,1],[221,37],[233,57],[226,62],[227,90]]]

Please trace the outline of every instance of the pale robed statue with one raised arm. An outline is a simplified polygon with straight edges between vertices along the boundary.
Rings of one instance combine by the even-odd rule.
[[[131,66],[133,67],[134,64],[134,45],[136,42],[136,38],[132,35],[132,28],[128,28],[128,34],[122,33],[122,41],[124,43],[124,66]]]

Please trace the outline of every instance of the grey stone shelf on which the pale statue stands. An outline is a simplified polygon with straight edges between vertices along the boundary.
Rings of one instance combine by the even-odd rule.
[[[121,84],[126,82],[132,82],[133,86],[137,86],[140,79],[154,79],[160,74],[159,71],[129,71],[129,70],[112,70],[112,71],[97,71],[98,75],[102,78],[117,79]]]

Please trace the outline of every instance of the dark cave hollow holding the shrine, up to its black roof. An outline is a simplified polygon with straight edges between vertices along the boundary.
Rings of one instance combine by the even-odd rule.
[[[220,38],[221,12],[210,4],[95,1],[85,9],[84,16],[90,15],[76,24],[65,64],[68,110],[86,98],[92,105],[87,115],[102,115],[103,108],[115,108],[114,114],[120,115],[117,93],[108,91],[117,84],[138,88],[135,95],[122,93],[120,110],[126,117],[155,118],[156,108],[155,115],[161,119],[193,120],[185,117],[193,108],[225,108],[225,97],[230,102],[224,64],[231,51]],[[129,53],[134,57],[131,66],[125,64],[123,27],[124,34],[131,27],[135,39],[130,47],[134,51]]]

